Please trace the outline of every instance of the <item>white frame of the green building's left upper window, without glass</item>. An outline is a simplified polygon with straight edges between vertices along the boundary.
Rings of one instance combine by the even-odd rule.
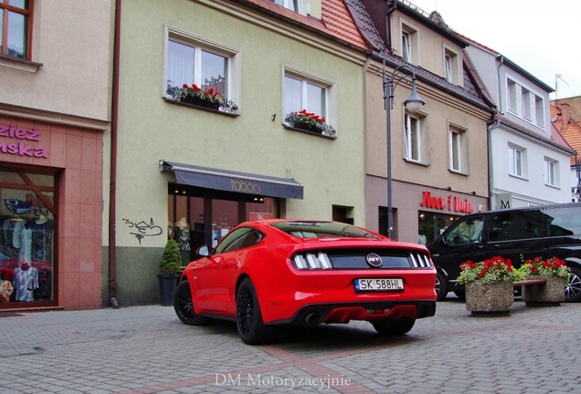
[[[236,103],[238,110],[237,114],[241,112],[240,108],[240,50],[235,47],[229,47],[224,44],[217,43],[216,41],[209,40],[203,36],[197,36],[193,33],[185,32],[184,30],[177,29],[173,26],[164,26],[164,79],[162,87],[162,97],[167,100],[174,99],[167,93],[168,83],[169,83],[169,41],[175,41],[180,44],[184,44],[195,48],[195,52],[201,53],[201,51],[206,50],[207,52],[217,54],[219,56],[226,57],[227,59],[227,86],[226,86],[226,99]],[[199,60],[201,61],[201,60]],[[197,63],[198,60],[195,60]],[[200,75],[198,71],[194,72],[195,75]],[[200,81],[191,81],[188,85],[195,83],[201,86]],[[178,88],[181,88],[180,84],[177,84]]]

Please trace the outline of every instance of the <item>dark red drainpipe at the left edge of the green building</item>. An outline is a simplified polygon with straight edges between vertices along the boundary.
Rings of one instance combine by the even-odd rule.
[[[119,124],[119,55],[121,41],[121,0],[115,0],[115,27],[113,43],[113,87],[111,97],[111,168],[109,183],[109,303],[113,309],[119,308],[117,302],[117,279],[115,266],[115,218],[117,208],[117,127]]]

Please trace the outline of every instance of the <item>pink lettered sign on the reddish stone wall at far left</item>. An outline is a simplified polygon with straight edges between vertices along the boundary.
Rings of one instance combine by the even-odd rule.
[[[0,124],[0,153],[47,159],[45,148],[32,145],[37,141],[40,141],[40,131]]]

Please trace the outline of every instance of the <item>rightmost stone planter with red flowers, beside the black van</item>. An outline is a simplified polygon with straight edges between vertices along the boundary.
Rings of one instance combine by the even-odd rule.
[[[565,286],[570,269],[558,257],[526,260],[519,273],[527,280],[543,279],[544,284],[523,285],[523,301],[526,306],[558,306],[565,301]]]

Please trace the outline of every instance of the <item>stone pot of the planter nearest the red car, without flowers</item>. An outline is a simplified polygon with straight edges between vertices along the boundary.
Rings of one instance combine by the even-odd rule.
[[[514,289],[511,281],[483,284],[473,281],[466,284],[466,309],[472,315],[507,315],[512,309]]]

